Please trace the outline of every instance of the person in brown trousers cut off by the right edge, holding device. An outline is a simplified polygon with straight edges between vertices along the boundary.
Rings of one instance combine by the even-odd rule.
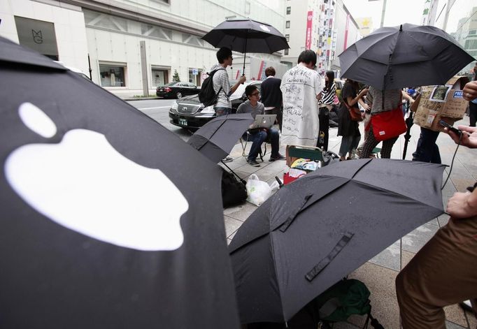
[[[464,98],[477,98],[477,81],[463,89]],[[477,128],[445,129],[460,145],[477,148]],[[401,270],[396,293],[402,327],[445,329],[443,307],[471,300],[477,312],[477,183],[454,193],[446,212],[450,219]]]

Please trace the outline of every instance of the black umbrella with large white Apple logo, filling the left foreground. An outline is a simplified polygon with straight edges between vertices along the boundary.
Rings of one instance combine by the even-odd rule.
[[[0,328],[238,328],[220,168],[4,38],[0,76]]]

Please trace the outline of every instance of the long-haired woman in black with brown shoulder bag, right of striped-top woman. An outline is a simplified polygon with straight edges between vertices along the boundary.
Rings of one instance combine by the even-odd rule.
[[[341,103],[339,111],[338,136],[343,136],[339,147],[340,160],[346,160],[347,153],[349,154],[348,159],[353,159],[359,140],[361,139],[361,133],[359,133],[359,122],[351,119],[350,110],[355,109],[359,111],[358,101],[366,95],[368,89],[363,89],[359,94],[358,91],[358,83],[346,79],[343,89],[341,90],[343,103]],[[350,108],[350,110],[348,110],[348,108]]]

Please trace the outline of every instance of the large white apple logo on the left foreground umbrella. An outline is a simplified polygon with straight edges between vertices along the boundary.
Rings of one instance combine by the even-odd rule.
[[[55,123],[35,105],[18,110],[29,129],[55,135]],[[161,170],[122,156],[101,133],[73,129],[59,144],[18,147],[5,173],[31,207],[73,231],[144,251],[183,244],[180,217],[189,208],[183,194]]]

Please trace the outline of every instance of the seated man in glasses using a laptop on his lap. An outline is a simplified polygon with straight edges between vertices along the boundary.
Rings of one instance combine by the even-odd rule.
[[[264,105],[260,103],[259,92],[256,86],[249,85],[245,87],[245,96],[247,96],[248,101],[241,103],[238,106],[237,113],[250,113],[255,119],[255,116],[264,114]],[[266,140],[266,137],[270,135],[271,141],[271,156],[270,161],[275,160],[284,160],[285,156],[278,153],[280,148],[280,134],[276,129],[265,129],[265,128],[255,128],[249,129],[248,133],[243,134],[243,139],[252,141],[252,147],[248,153],[247,162],[250,166],[259,167],[260,164],[257,162],[257,156],[262,147],[262,142]]]

